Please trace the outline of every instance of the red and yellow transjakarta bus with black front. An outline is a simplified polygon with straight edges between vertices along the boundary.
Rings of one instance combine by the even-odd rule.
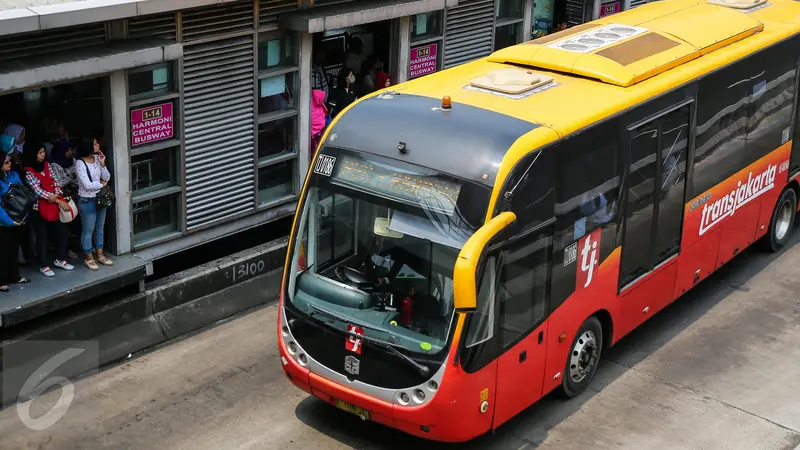
[[[585,390],[605,348],[750,244],[783,247],[800,3],[734,1],[651,3],[337,116],[289,241],[286,376],[465,441]]]

